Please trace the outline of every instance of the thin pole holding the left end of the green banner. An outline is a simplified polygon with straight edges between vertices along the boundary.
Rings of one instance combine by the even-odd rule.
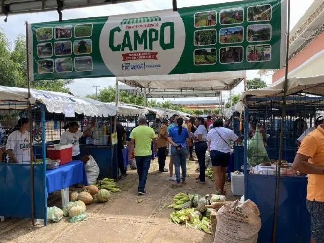
[[[29,117],[29,139],[30,139],[30,151],[33,151],[33,120],[32,120],[32,105],[30,104],[29,98],[30,94],[30,73],[29,73],[29,53],[28,53],[28,22],[25,22],[26,25],[26,64],[27,64],[27,85],[28,85],[28,117]],[[30,153],[30,200],[31,200],[31,216],[32,224],[35,225],[34,218],[34,166],[33,166],[33,154]]]

